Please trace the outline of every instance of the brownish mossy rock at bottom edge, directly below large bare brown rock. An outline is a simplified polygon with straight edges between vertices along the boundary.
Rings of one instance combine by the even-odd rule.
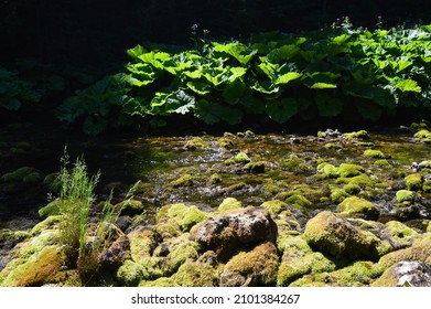
[[[220,275],[222,287],[270,286],[277,281],[279,257],[272,243],[258,245],[230,258]]]

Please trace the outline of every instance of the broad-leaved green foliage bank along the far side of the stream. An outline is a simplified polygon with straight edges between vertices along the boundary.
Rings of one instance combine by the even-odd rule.
[[[163,125],[175,114],[235,125],[256,114],[284,124],[316,114],[376,121],[399,108],[430,110],[430,26],[370,32],[343,23],[176,53],[138,45],[127,52],[126,73],[77,92],[57,116],[98,134],[142,118]]]

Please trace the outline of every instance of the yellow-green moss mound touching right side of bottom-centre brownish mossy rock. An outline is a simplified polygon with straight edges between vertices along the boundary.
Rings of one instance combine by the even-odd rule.
[[[285,251],[277,275],[277,286],[289,286],[293,280],[308,275],[335,270],[335,264],[321,253]]]

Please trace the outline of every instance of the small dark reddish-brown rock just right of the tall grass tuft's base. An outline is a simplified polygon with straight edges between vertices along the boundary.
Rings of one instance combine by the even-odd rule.
[[[103,268],[114,270],[120,267],[130,257],[130,241],[126,235],[115,241],[99,257]]]

